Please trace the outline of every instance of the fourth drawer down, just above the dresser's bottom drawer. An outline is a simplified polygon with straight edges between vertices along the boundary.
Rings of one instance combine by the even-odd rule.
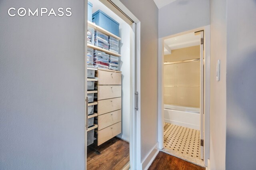
[[[121,110],[98,116],[98,130],[109,127],[121,121]]]

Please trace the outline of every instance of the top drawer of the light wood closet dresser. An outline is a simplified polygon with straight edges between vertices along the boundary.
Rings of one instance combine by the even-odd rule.
[[[121,85],[121,73],[98,70],[98,85]]]

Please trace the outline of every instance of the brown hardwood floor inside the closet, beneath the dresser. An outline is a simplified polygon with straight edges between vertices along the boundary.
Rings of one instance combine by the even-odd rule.
[[[90,146],[101,154],[87,147],[87,170],[121,170],[130,160],[129,143],[120,138],[114,137],[100,146]]]

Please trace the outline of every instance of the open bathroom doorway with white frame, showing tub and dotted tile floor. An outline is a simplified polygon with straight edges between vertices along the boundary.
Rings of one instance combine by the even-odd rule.
[[[209,154],[205,34],[200,28],[160,39],[158,91],[160,149],[203,167]]]

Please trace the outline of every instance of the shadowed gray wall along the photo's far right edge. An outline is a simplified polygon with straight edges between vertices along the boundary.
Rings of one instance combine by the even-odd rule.
[[[226,169],[255,169],[256,0],[227,0]]]

